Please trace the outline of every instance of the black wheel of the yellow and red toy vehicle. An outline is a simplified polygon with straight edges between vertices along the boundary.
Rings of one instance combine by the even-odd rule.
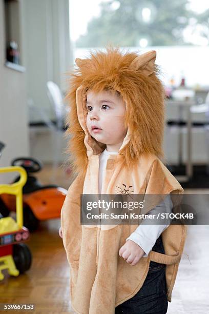
[[[31,267],[32,263],[32,255],[29,247],[25,243],[14,244],[13,259],[19,272],[24,273]]]

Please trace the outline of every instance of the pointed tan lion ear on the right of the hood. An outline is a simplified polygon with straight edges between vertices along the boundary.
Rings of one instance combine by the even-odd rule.
[[[151,50],[137,56],[131,63],[130,67],[133,70],[140,70],[145,75],[150,75],[155,69],[156,51]]]

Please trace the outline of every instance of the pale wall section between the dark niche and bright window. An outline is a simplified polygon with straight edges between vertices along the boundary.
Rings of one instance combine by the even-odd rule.
[[[53,81],[65,90],[65,72],[72,63],[68,0],[24,0],[23,4],[27,98],[54,119],[46,83]],[[30,121],[40,120],[30,111]]]

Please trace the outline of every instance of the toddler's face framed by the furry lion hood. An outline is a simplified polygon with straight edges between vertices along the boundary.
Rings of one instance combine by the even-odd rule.
[[[126,106],[114,91],[87,92],[87,128],[100,143],[114,145],[126,136],[124,114]]]

